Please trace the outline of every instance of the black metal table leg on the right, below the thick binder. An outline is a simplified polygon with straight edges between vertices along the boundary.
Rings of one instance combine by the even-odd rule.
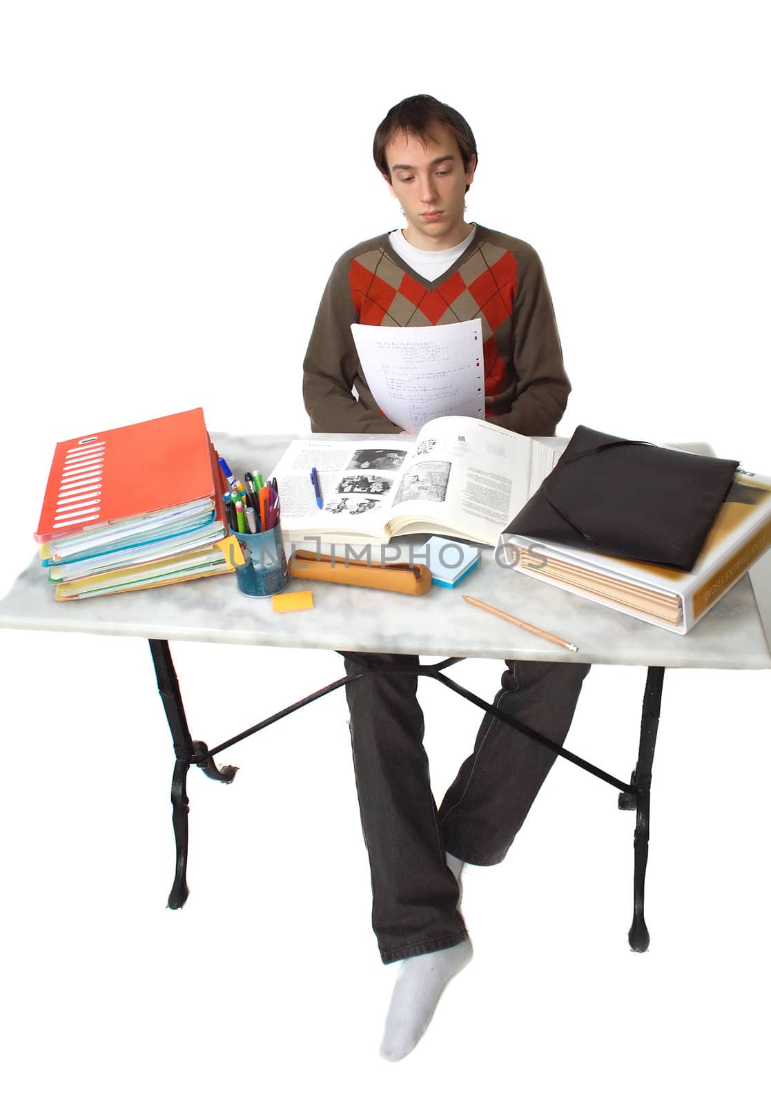
[[[643,716],[640,724],[637,767],[632,772],[634,796],[620,794],[619,808],[637,810],[634,830],[634,912],[630,928],[630,946],[634,951],[645,951],[651,936],[645,924],[645,869],[648,859],[648,827],[651,819],[651,777],[653,754],[656,749],[658,715],[662,705],[664,669],[648,667],[643,696]]]

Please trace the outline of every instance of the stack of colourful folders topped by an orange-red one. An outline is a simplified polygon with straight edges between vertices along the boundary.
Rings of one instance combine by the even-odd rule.
[[[223,490],[200,407],[60,442],[34,535],[56,599],[233,571]]]

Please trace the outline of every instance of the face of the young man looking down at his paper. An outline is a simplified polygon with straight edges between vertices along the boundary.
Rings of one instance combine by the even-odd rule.
[[[466,171],[450,128],[437,127],[425,145],[414,135],[399,134],[385,147],[385,160],[391,172],[389,188],[404,211],[404,238],[410,245],[450,250],[462,242],[468,233],[464,197],[466,185],[474,179],[476,159]]]

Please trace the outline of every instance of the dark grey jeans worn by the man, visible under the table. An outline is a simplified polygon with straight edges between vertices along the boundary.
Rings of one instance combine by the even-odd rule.
[[[460,944],[466,927],[445,852],[499,863],[556,754],[486,714],[474,751],[439,811],[423,747],[418,656],[342,653],[346,671],[385,667],[346,687],[361,827],[372,875],[372,927],[383,962]],[[588,664],[506,661],[498,709],[556,744],[573,718]]]

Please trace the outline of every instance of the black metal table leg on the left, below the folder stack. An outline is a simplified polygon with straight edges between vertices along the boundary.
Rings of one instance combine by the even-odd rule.
[[[193,740],[188,729],[188,722],[184,716],[182,696],[177,682],[177,673],[171,660],[171,650],[168,641],[150,641],[150,653],[156,669],[158,680],[158,692],[163,703],[166,718],[171,729],[171,739],[175,746],[173,776],[171,779],[171,820],[175,829],[175,843],[177,845],[177,870],[175,881],[169,894],[169,908],[180,909],[188,897],[187,869],[188,869],[188,791],[186,787],[188,768],[196,757],[198,766],[209,776],[210,779],[219,779],[221,782],[232,782],[237,768],[218,768],[211,756],[200,760],[200,757],[209,751],[202,740]]]

